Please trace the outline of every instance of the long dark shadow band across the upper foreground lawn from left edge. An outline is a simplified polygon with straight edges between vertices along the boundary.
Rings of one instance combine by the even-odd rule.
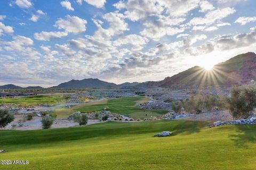
[[[199,132],[207,122],[196,121],[151,121],[134,123],[100,123],[79,128],[61,128],[30,131],[2,131],[1,145],[33,145],[56,143],[89,138],[114,138],[126,135],[154,134],[171,131],[172,135],[186,135]]]

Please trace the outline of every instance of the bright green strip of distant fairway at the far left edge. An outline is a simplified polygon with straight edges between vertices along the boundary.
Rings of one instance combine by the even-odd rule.
[[[2,104],[18,104],[18,105],[38,105],[38,104],[55,104],[63,98],[60,96],[29,96],[29,97],[10,97],[0,98]]]

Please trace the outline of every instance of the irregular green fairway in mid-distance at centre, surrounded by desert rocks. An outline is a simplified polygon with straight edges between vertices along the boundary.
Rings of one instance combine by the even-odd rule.
[[[125,97],[117,99],[109,99],[105,104],[95,104],[90,106],[82,106],[75,108],[75,111],[80,112],[92,112],[92,111],[102,111],[106,106],[109,107],[107,111],[111,113],[122,114],[126,116],[132,116],[133,118],[145,118],[150,116],[159,116],[167,113],[168,111],[154,110],[154,111],[143,111],[143,109],[136,106],[140,101],[144,101],[145,97]]]

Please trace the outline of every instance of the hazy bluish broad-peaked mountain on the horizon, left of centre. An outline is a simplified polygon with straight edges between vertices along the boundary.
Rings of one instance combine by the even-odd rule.
[[[99,79],[83,79],[83,80],[71,80],[69,82],[61,83],[58,86],[51,88],[54,89],[83,89],[83,88],[105,88],[105,87],[117,87],[115,83],[109,83],[101,81]]]

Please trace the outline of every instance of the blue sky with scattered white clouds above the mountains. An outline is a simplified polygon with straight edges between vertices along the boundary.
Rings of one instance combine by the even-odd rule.
[[[0,1],[0,85],[159,81],[247,52],[254,0]]]

